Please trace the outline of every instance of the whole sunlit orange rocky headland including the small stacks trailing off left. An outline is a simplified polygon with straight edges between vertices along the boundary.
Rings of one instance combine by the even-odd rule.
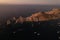
[[[48,21],[59,18],[60,18],[60,9],[54,8],[51,11],[34,13],[26,18],[20,16],[19,18],[16,19],[15,17],[13,17],[13,20],[16,20],[16,23],[23,23],[25,21],[38,22],[38,21]],[[7,24],[9,23],[10,22],[8,21]]]

